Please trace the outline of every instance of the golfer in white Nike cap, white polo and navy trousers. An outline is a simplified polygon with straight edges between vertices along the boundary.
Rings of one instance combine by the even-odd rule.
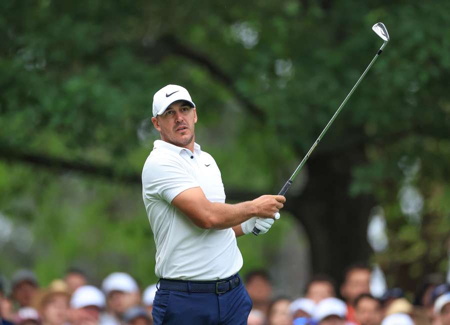
[[[236,237],[267,232],[285,198],[224,203],[220,170],[194,142],[197,111],[185,88],[158,90],[151,121],[161,139],[143,166],[142,196],[156,244],[154,324],[246,324],[252,303]]]

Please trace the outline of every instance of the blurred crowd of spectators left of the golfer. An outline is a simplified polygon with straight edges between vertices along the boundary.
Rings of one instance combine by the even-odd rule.
[[[35,274],[20,269],[12,275],[10,293],[0,285],[0,325],[151,325],[156,285],[143,291],[124,272],[106,276],[100,287],[83,271],[69,269],[48,287]]]

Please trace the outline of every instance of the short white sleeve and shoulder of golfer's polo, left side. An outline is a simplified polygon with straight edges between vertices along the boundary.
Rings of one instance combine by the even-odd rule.
[[[181,163],[181,157],[150,157],[142,170],[142,188],[148,197],[162,198],[167,202],[182,191],[199,187],[195,178]]]

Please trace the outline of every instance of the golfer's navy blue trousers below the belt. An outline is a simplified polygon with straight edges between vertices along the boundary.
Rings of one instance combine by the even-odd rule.
[[[240,280],[238,286],[219,294],[160,289],[151,314],[154,325],[245,325],[251,307]]]

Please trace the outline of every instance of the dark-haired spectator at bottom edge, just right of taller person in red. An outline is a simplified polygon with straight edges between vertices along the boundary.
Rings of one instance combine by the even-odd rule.
[[[356,321],[361,325],[379,325],[382,319],[381,302],[369,293],[354,300]]]

